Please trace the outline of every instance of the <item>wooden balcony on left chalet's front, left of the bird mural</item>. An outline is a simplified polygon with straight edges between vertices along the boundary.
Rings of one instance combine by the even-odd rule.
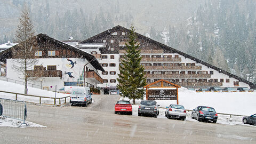
[[[62,77],[61,70],[28,70],[29,77]]]

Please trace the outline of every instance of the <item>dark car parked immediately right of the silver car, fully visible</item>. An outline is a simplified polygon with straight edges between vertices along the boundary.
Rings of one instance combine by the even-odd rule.
[[[198,106],[193,109],[191,118],[196,118],[199,122],[210,120],[213,123],[216,123],[218,119],[218,114],[212,107]]]

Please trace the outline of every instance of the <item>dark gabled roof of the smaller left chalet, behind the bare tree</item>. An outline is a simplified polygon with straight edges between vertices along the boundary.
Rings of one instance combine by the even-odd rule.
[[[75,52],[81,54],[81,58],[85,58],[87,61],[89,61],[94,68],[99,69],[101,71],[105,71],[102,68],[102,66],[100,65],[99,61],[90,53],[82,51],[82,50],[78,49],[77,47],[71,46],[71,45],[66,44],[64,42],[61,42],[58,39],[54,39],[54,38],[52,38],[50,36],[47,36],[45,34],[38,34],[34,38],[37,39],[38,44],[39,44],[40,41],[47,41],[47,42],[51,42],[51,43],[55,44],[56,46],[61,46],[64,49],[75,51]],[[0,61],[6,63],[6,59],[12,58],[12,49],[14,49],[17,46],[19,46],[19,44],[15,45],[15,46],[12,46],[9,49],[0,52]]]

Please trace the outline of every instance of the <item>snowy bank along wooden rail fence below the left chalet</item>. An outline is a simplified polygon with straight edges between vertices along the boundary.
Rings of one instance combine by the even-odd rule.
[[[0,91],[24,93],[24,86],[20,84],[11,83],[11,82],[0,81]],[[41,90],[35,87],[28,87],[28,94],[55,98],[55,92]],[[69,94],[56,93],[56,98],[63,98],[67,96],[69,96]],[[15,99],[15,94],[0,92],[0,98]],[[67,101],[69,100],[68,98],[66,99]],[[18,95],[18,100],[39,103],[39,98],[25,96],[25,95]],[[54,104],[54,99],[42,98],[41,101],[42,103]],[[65,102],[65,99],[61,99],[61,103],[64,103],[64,102]],[[59,99],[57,99],[57,103],[59,103]]]

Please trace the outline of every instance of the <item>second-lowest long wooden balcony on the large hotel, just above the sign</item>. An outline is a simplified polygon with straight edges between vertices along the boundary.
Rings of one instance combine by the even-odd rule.
[[[210,78],[210,74],[146,74],[147,78]]]

